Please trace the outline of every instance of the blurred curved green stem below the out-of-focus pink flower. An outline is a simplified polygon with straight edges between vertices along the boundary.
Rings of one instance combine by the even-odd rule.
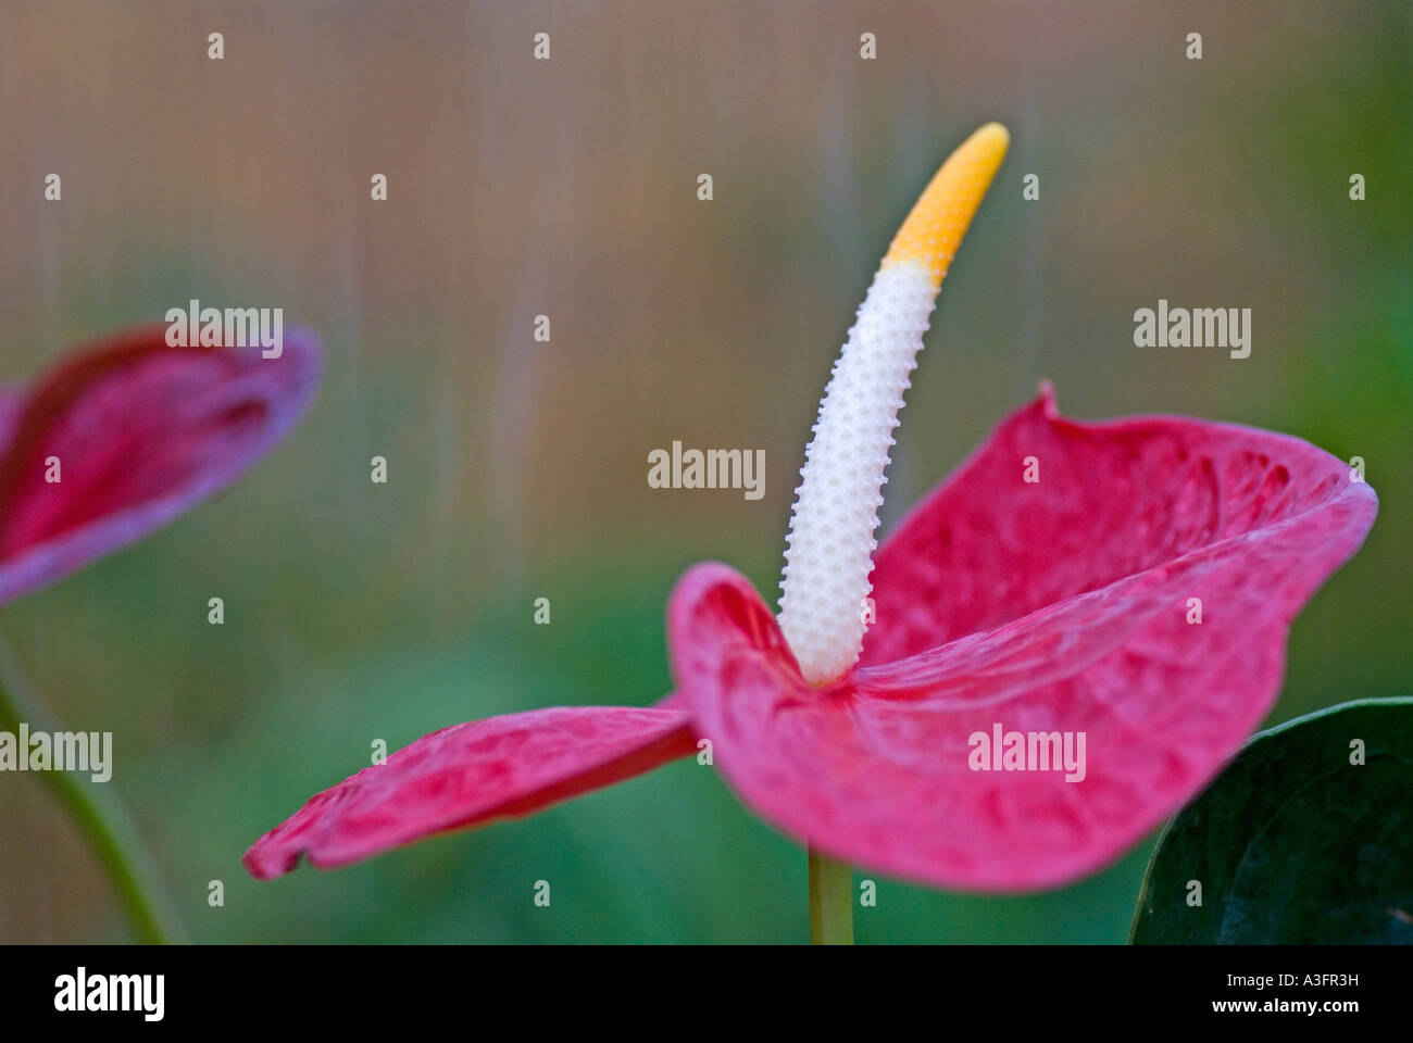
[[[17,733],[24,721],[31,729],[51,735],[58,732],[38,698],[17,677],[8,649],[0,649],[0,728]],[[21,758],[30,753],[24,749],[17,752]],[[157,862],[133,817],[107,783],[81,779],[72,772],[35,772],[35,776],[59,799],[103,864],[137,937],[154,945],[181,940],[181,927]]]

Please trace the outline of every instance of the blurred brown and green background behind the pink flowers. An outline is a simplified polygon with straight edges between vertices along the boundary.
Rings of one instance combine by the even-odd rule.
[[[256,883],[239,858],[373,739],[658,698],[692,561],[773,599],[853,310],[935,165],[999,119],[885,526],[1041,377],[1080,417],[1287,431],[1364,456],[1382,510],[1296,622],[1272,722],[1407,694],[1410,55],[1403,0],[3,0],[0,380],[191,297],[284,307],[328,372],[219,503],[0,630],[68,726],[116,733],[110,784],[199,941],[804,940],[803,851],[692,760],[339,872]],[[1160,297],[1252,308],[1251,358],[1135,348]],[[764,499],[649,489],[674,438],[763,448]],[[1150,845],[1048,895],[880,879],[858,937],[1119,943]],[[0,776],[0,940],[127,937],[49,794]]]

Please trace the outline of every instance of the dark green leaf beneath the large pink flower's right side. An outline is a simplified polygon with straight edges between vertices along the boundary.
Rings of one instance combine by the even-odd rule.
[[[1159,838],[1132,941],[1413,943],[1413,698],[1246,743]]]

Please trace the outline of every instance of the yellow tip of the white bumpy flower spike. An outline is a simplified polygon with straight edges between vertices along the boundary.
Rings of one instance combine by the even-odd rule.
[[[933,276],[933,288],[941,287],[952,254],[1009,146],[1010,131],[999,123],[988,123],[962,141],[933,175],[903,228],[893,236],[883,267],[903,261],[926,264]]]

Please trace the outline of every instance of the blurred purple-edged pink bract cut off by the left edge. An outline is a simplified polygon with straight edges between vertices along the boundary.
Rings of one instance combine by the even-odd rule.
[[[171,348],[140,326],[0,391],[0,605],[147,536],[225,489],[309,403],[318,341]],[[58,481],[54,481],[58,479]]]

